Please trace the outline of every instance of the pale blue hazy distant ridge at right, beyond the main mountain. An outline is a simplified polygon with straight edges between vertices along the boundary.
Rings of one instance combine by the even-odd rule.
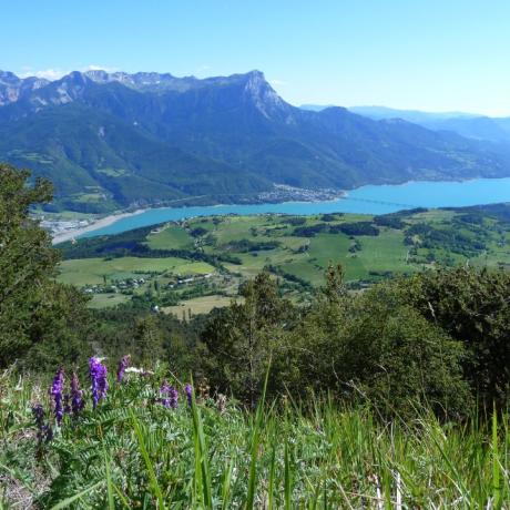
[[[452,131],[470,139],[510,143],[510,118],[461,112],[430,113],[386,106],[353,106],[349,111],[374,120],[402,119],[434,131]]]

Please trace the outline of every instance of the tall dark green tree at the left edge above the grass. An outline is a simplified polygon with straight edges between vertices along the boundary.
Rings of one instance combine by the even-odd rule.
[[[51,185],[27,186],[29,175],[0,164],[0,367],[78,360],[86,328],[86,299],[53,282],[58,252],[29,216],[31,205],[51,200]]]

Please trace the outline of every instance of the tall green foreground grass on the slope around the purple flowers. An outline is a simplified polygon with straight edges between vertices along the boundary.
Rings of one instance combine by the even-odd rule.
[[[292,398],[254,415],[205,395],[190,407],[178,380],[174,410],[159,402],[164,375],[111,380],[96,411],[86,395],[38,447],[30,408],[49,408],[45,386],[4,374],[1,508],[509,508],[506,415],[384,422],[370,405]]]

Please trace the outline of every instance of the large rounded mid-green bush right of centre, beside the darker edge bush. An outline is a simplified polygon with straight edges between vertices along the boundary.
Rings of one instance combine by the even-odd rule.
[[[330,271],[324,297],[288,335],[283,357],[286,387],[363,396],[385,415],[411,415],[416,401],[450,416],[470,406],[462,345],[406,305],[390,285],[350,297]]]

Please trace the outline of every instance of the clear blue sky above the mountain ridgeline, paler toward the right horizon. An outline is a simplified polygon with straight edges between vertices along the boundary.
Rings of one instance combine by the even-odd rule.
[[[263,71],[299,105],[510,115],[509,0],[0,0],[0,69]]]

